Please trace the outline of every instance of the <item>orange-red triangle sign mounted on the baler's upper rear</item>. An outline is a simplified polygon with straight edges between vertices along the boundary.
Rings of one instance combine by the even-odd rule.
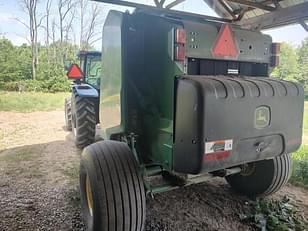
[[[229,24],[223,24],[221,26],[212,48],[212,55],[217,58],[236,59],[238,57],[239,51]]]

